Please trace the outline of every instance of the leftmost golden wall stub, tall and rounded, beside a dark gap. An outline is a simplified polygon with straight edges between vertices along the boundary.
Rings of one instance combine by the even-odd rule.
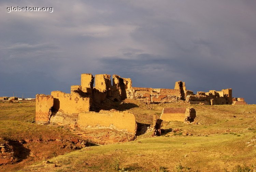
[[[35,123],[48,124],[52,114],[53,96],[36,95],[35,96]]]

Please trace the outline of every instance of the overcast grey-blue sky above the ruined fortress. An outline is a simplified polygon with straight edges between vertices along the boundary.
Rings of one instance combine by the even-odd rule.
[[[69,93],[81,73],[107,73],[256,104],[255,66],[255,0],[0,0],[0,96]]]

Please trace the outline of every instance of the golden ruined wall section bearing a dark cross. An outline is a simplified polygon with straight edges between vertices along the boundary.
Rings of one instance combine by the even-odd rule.
[[[51,95],[54,98],[53,108],[56,111],[61,111],[63,113],[72,114],[88,112],[92,104],[92,99],[90,97],[83,97],[86,95],[80,95],[74,91],[72,94],[67,94],[61,91],[52,91]]]

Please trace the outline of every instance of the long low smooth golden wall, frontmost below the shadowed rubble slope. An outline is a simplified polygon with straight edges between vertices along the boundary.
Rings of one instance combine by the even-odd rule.
[[[127,111],[100,111],[79,113],[78,125],[80,127],[110,128],[122,132],[136,134],[137,123],[135,116]]]

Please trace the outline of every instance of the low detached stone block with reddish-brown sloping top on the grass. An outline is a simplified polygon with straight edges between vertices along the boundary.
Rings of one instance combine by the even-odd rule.
[[[194,108],[163,108],[160,119],[164,121],[189,121],[193,122],[196,118]]]

